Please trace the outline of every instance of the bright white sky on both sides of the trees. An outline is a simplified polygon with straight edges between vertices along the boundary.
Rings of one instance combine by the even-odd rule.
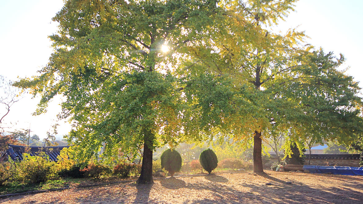
[[[52,17],[63,5],[62,0],[0,0],[0,75],[10,80],[30,77],[48,62],[52,53],[48,36],[55,33],[57,24]],[[306,31],[314,46],[323,47],[346,57],[343,68],[350,67],[348,75],[354,76],[363,87],[363,1],[362,0],[301,0],[279,29],[295,28]],[[5,122],[13,129],[30,129],[32,134],[45,138],[51,126],[60,123],[58,138],[67,134],[70,125],[57,122],[60,112],[57,103],[48,108],[48,113],[32,116],[39,99],[25,96],[11,107]],[[0,107],[0,114],[4,112]],[[10,124],[12,122],[12,124]],[[16,124],[15,124],[16,123]],[[10,129],[8,129],[10,130]]]

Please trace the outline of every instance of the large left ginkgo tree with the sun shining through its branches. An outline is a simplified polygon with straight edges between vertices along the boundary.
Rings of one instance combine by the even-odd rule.
[[[216,1],[69,0],[53,18],[54,53],[30,88],[46,111],[64,96],[61,117],[73,121],[69,141],[90,158],[143,148],[139,184],[152,183],[157,142],[177,143],[183,133],[186,86],[175,70],[179,50],[205,37]]]

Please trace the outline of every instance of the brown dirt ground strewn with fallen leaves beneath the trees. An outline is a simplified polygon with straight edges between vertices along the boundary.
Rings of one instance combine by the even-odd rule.
[[[152,185],[135,182],[20,195],[0,203],[363,203],[363,177],[266,171],[224,173],[155,179]],[[291,182],[291,184],[286,184]],[[269,183],[271,185],[266,185]]]

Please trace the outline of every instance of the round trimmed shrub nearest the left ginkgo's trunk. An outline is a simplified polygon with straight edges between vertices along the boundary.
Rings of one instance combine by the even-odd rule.
[[[181,156],[178,151],[168,149],[163,152],[160,157],[161,167],[165,168],[171,176],[174,176],[175,172],[180,171],[181,168]]]

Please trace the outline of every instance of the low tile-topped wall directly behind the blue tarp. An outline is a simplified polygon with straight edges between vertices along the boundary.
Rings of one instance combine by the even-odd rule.
[[[305,163],[308,165],[309,154],[305,154]],[[352,166],[359,167],[359,154],[311,154],[310,165],[316,166]]]

